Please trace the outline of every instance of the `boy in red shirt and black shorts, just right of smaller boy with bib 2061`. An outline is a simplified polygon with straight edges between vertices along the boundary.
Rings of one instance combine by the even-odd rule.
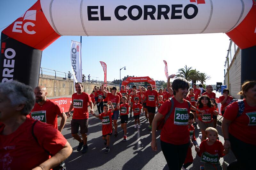
[[[131,103],[131,98],[129,98],[129,103],[126,103],[127,98],[125,96],[122,97],[122,102],[123,104],[121,104],[119,106],[119,110],[120,110],[120,118],[121,118],[121,127],[124,130],[124,139],[123,141],[126,142],[127,141],[127,123],[128,123],[128,115],[129,115],[129,106]]]

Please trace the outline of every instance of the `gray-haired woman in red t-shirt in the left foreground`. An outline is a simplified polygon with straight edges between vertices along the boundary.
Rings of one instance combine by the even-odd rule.
[[[51,169],[72,153],[67,140],[52,125],[26,117],[34,104],[31,87],[18,81],[0,83],[0,167],[3,169]]]

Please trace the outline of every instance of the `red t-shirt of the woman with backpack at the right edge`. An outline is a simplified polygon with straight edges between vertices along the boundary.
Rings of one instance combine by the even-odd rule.
[[[256,107],[249,106],[244,99],[244,112],[239,117],[236,117],[237,113],[237,102],[225,110],[224,118],[232,121],[228,132],[245,143],[256,145]]]

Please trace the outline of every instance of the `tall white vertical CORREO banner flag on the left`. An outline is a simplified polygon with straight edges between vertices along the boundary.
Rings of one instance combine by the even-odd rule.
[[[76,82],[82,82],[82,52],[80,42],[73,40],[71,41],[70,60],[75,88]]]

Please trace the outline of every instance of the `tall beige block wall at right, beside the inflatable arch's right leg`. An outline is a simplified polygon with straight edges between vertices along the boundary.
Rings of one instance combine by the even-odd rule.
[[[228,67],[225,80],[230,96],[240,99],[240,95],[237,95],[241,90],[241,51],[239,49],[236,51],[236,54]]]

